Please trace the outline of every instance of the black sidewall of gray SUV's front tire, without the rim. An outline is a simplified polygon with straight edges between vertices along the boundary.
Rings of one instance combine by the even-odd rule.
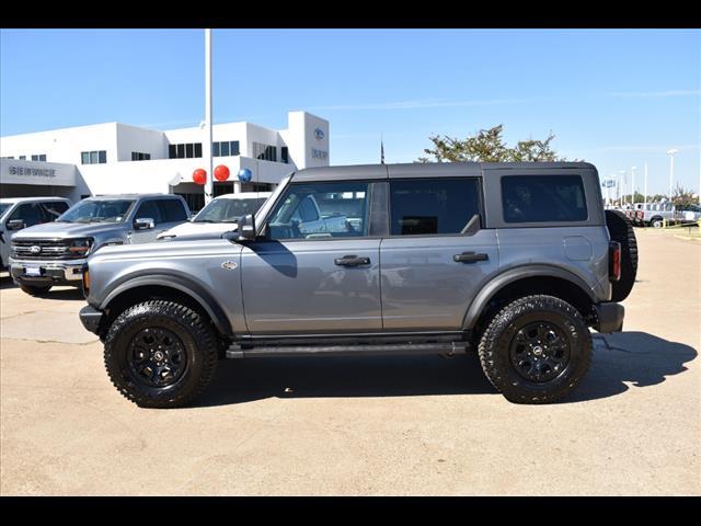
[[[116,334],[108,335],[105,345],[105,366],[112,371],[113,381],[137,403],[139,399],[166,402],[182,398],[195,388],[203,374],[203,354],[192,328],[182,319],[164,316],[154,310],[145,308],[123,313],[114,323],[118,329],[115,331]],[[185,371],[177,381],[164,388],[139,382],[129,368],[130,343],[140,331],[149,328],[166,329],[173,332],[185,350],[187,361]]]

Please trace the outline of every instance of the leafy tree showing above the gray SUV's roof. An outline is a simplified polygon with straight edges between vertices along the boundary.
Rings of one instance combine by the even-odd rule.
[[[417,162],[519,162],[519,161],[564,161],[551,147],[555,138],[550,134],[544,140],[520,140],[515,147],[504,141],[502,133],[504,125],[499,124],[489,129],[481,129],[475,136],[458,139],[447,135],[434,135],[428,139],[434,148],[425,148]]]

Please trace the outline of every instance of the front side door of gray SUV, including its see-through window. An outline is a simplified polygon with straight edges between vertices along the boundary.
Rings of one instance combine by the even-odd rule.
[[[241,254],[251,334],[379,332],[380,239],[369,236],[370,185],[292,183],[265,238]]]

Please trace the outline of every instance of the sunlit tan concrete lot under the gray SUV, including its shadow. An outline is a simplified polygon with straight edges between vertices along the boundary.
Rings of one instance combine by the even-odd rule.
[[[0,279],[0,493],[701,493],[701,242],[637,230],[625,332],[575,395],[516,405],[473,355],[226,361],[196,407],[110,384],[80,293]]]

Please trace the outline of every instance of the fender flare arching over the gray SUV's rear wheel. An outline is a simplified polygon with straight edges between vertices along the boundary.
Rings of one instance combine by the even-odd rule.
[[[597,302],[596,295],[591,290],[591,287],[573,272],[547,264],[516,266],[497,274],[482,287],[480,293],[470,304],[470,307],[468,307],[468,311],[466,312],[462,321],[462,328],[473,329],[480,319],[484,307],[504,287],[520,279],[538,276],[558,277],[570,282],[585,293],[593,304]]]

